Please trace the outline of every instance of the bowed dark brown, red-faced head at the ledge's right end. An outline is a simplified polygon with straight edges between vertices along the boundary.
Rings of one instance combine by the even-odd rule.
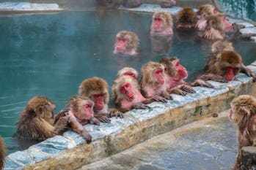
[[[238,74],[242,66],[242,58],[235,51],[223,51],[216,56],[216,71],[224,76],[227,81],[231,81]]]

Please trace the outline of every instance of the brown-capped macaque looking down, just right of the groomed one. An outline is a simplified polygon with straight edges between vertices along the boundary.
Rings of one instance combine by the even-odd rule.
[[[109,89],[105,80],[99,77],[84,80],[79,85],[78,93],[94,101],[93,111],[100,122],[110,123],[109,117],[123,117],[118,109],[109,109]]]

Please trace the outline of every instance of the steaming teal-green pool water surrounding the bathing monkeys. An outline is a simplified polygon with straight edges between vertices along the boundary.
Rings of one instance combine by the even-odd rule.
[[[84,79],[102,77],[111,89],[122,66],[140,70],[147,61],[158,61],[162,55],[153,52],[149,36],[151,16],[117,10],[0,15],[0,136],[8,152],[19,150],[12,139],[15,123],[33,96],[51,98],[56,113],[78,93]],[[123,29],[139,36],[138,56],[112,53],[114,36]],[[255,61],[254,43],[234,43],[245,64]],[[166,53],[177,55],[193,80],[205,64],[208,45],[197,38],[183,41],[175,32]]]

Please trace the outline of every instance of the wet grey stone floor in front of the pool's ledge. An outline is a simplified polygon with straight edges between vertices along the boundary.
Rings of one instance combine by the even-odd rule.
[[[200,120],[137,144],[84,169],[232,169],[236,127],[227,118]]]

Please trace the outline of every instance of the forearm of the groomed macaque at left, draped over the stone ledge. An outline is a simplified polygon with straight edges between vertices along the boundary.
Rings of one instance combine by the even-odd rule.
[[[78,123],[75,116],[71,116],[69,120],[70,128],[82,136],[86,142],[89,144],[92,142],[92,136],[89,134],[87,130],[85,130],[84,126]]]

